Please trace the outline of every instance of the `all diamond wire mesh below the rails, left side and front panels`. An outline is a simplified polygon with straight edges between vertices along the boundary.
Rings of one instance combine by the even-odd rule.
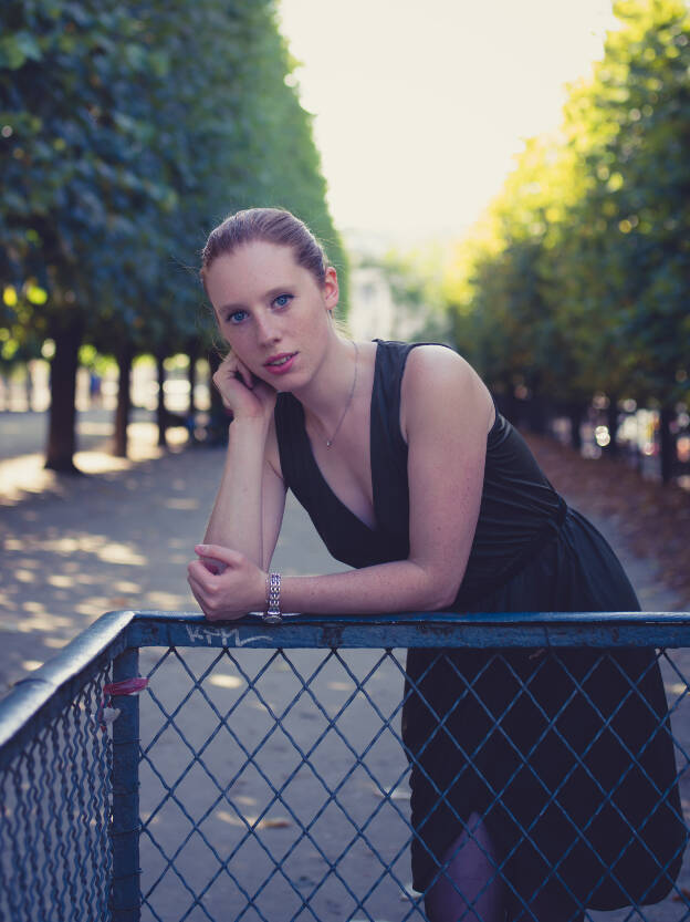
[[[494,884],[511,922],[690,922],[690,646],[429,646],[412,669],[380,633],[283,649],[253,632],[252,649],[187,632],[140,652],[138,724],[114,725],[132,777],[114,790],[95,719],[109,665],[0,753],[0,922],[135,920],[139,867],[145,922],[487,922]]]

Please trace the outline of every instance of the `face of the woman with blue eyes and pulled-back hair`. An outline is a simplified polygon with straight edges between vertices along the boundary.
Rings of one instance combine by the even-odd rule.
[[[221,334],[257,377],[278,391],[311,380],[334,335],[334,269],[321,284],[295,261],[292,247],[257,240],[219,256],[207,270],[206,290]]]

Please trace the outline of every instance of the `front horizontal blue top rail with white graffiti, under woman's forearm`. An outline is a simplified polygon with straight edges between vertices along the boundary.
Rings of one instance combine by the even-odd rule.
[[[265,624],[251,613],[210,622],[199,612],[138,611],[132,646],[690,646],[690,612],[406,612],[286,614]]]

